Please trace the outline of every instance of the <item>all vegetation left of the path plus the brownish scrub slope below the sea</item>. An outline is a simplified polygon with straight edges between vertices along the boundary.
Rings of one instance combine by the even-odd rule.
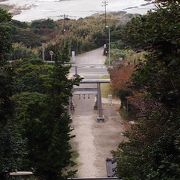
[[[121,16],[108,16],[114,37]],[[67,63],[71,50],[85,52],[106,41],[101,15],[25,23],[0,9],[0,179],[23,170],[43,180],[75,175],[68,104],[80,78],[67,78]],[[54,65],[42,61],[42,44],[46,60],[54,51]]]

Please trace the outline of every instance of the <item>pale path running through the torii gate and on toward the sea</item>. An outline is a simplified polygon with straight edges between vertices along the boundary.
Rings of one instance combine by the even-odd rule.
[[[103,49],[97,49],[84,53],[76,57],[76,64],[104,64],[105,57],[102,55]],[[85,73],[85,78],[100,78],[102,75],[97,70],[89,68]],[[103,68],[104,74],[108,75],[107,69]],[[84,87],[81,85],[80,87]],[[86,85],[95,87],[96,85]],[[97,122],[97,111],[94,110],[95,95],[81,94],[74,95],[73,101],[75,111],[72,114],[74,128],[73,147],[78,152],[77,177],[106,177],[106,158],[111,157],[111,151],[115,150],[118,144],[124,140],[122,136],[123,121],[119,116],[119,104],[109,105],[105,100],[103,113],[105,122]]]

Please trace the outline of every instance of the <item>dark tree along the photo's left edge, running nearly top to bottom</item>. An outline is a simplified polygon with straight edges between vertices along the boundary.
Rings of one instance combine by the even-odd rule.
[[[14,124],[12,67],[6,62],[11,49],[11,15],[0,9],[0,179],[21,164],[22,144]]]

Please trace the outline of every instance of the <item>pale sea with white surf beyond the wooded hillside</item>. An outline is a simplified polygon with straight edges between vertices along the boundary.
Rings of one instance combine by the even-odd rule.
[[[36,19],[61,18],[63,14],[70,18],[86,17],[95,13],[102,13],[104,0],[7,0],[4,4],[15,5],[22,11],[13,18],[20,21]],[[142,6],[144,0],[107,0],[107,12],[126,10],[129,13],[144,14],[153,5]]]

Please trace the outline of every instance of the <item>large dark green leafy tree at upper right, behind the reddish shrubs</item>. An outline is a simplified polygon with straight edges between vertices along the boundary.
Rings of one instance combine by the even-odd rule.
[[[160,7],[157,12],[133,19],[125,28],[127,43],[149,52],[147,62],[134,77],[137,86],[145,87],[169,106],[179,104],[179,10],[176,4]]]

